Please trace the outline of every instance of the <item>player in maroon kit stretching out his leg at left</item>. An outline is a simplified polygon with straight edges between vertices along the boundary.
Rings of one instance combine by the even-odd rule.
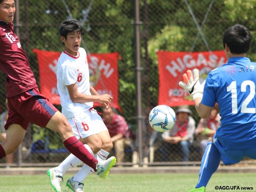
[[[98,162],[76,139],[62,113],[40,94],[26,54],[14,33],[14,13],[14,0],[0,0],[0,70],[6,74],[9,107],[5,125],[6,140],[0,143],[0,159],[18,148],[29,122],[32,122],[58,132],[66,148],[101,176],[102,172],[108,172],[111,162]],[[111,101],[102,100],[102,103],[110,106]]]

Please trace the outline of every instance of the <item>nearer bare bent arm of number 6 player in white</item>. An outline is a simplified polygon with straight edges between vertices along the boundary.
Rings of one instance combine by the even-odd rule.
[[[108,94],[104,95],[85,95],[78,92],[77,84],[67,86],[68,93],[72,102],[85,103],[85,102],[100,102],[111,104],[112,97]]]

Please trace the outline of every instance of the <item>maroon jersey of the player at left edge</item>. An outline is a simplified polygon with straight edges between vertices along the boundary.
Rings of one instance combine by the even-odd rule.
[[[0,21],[0,70],[6,74],[7,97],[36,88],[26,53],[14,33],[12,23]]]

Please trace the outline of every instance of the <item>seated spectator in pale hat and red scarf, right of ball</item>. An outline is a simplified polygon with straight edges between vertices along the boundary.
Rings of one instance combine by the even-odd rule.
[[[189,147],[194,140],[196,123],[190,116],[192,111],[188,109],[188,106],[180,106],[175,113],[176,121],[173,128],[162,134],[164,141],[163,146],[160,148],[162,160],[168,161],[171,150],[173,150],[173,147],[178,146],[182,152],[182,161],[188,161]]]

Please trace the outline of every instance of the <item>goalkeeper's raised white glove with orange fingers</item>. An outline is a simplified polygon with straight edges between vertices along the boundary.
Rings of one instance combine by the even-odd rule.
[[[198,97],[203,97],[204,86],[199,82],[199,70],[194,69],[193,74],[191,70],[187,70],[187,73],[182,75],[184,82],[180,81],[179,85],[195,100]]]

